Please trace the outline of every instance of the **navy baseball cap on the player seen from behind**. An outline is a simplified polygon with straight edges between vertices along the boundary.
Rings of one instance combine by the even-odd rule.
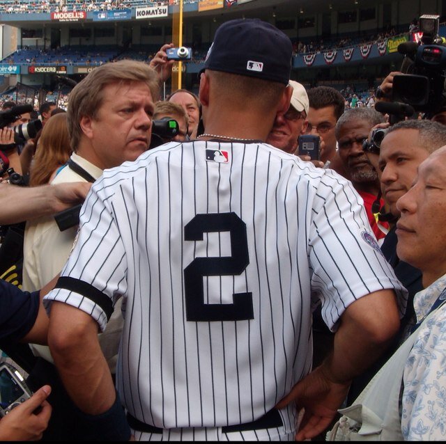
[[[215,32],[204,69],[288,84],[293,46],[282,31],[260,19],[236,19]]]

